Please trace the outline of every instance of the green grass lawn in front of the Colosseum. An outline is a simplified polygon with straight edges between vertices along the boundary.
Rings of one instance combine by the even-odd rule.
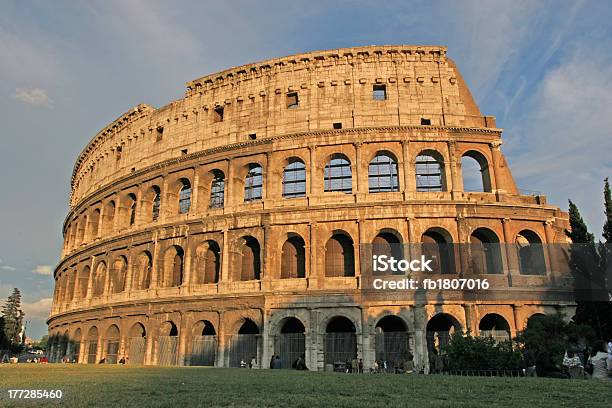
[[[0,366],[9,389],[60,389],[76,407],[610,407],[612,382],[88,365]]]

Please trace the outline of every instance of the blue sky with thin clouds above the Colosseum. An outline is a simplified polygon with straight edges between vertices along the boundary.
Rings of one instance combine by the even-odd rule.
[[[41,336],[77,154],[138,103],[231,66],[317,49],[448,46],[504,129],[519,187],[601,235],[612,174],[612,2],[1,1],[0,299]]]

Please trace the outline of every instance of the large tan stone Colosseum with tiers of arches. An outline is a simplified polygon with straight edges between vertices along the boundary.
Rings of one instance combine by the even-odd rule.
[[[394,365],[453,332],[571,316],[567,214],[520,191],[447,49],[370,46],[230,68],[141,104],[79,155],[48,320],[52,360],[311,370]],[[534,137],[537,135],[533,135]],[[537,160],[534,158],[534,160]],[[423,281],[372,254],[427,254]],[[380,276],[379,276],[380,275]]]

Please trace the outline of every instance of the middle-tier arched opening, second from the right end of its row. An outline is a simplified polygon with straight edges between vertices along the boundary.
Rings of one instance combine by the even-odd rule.
[[[478,228],[470,235],[469,266],[474,274],[503,273],[499,238],[490,229]]]

